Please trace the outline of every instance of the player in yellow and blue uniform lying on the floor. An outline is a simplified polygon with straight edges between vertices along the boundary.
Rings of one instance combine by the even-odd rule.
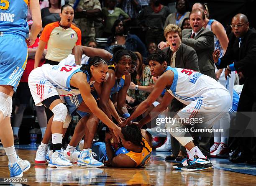
[[[90,123],[87,122],[87,125]],[[79,143],[82,147],[83,141]],[[93,142],[92,151],[95,159],[113,167],[141,167],[148,163],[152,152],[152,136],[136,125],[127,125],[121,130],[119,148],[113,148],[113,135],[106,130],[105,143]]]

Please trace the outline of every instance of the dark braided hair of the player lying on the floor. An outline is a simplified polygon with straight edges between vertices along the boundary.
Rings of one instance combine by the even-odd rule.
[[[146,148],[146,150],[148,150],[144,141],[142,140],[143,136],[141,134],[141,130],[136,125],[126,125],[122,128],[121,132],[123,134],[123,138],[126,141],[131,141],[135,145]],[[150,153],[149,150],[148,153]]]

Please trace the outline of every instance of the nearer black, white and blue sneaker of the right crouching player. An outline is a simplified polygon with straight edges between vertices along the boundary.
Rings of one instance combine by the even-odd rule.
[[[189,165],[183,166],[182,171],[202,171],[205,169],[212,168],[213,165],[208,158],[199,158],[197,155],[194,156],[194,161],[189,162]]]

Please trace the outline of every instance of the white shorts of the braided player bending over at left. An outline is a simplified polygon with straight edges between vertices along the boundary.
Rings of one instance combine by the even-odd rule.
[[[42,101],[49,97],[59,96],[57,89],[41,73],[41,67],[31,71],[28,76],[28,86],[36,106],[43,105]],[[63,102],[63,99],[61,100]]]

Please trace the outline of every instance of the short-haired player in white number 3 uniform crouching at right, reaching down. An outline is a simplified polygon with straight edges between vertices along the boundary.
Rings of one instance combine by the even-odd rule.
[[[167,66],[166,59],[167,56],[162,51],[151,54],[148,57],[151,74],[159,78],[151,94],[145,101],[138,105],[131,117],[125,120],[122,125],[127,125],[133,119],[143,114],[157,97],[159,97],[163,89],[166,89],[167,92],[161,103],[151,111],[152,115],[147,115],[138,125],[141,127],[156,117],[157,113],[165,110],[175,97],[187,106],[174,116],[177,120],[166,123],[166,128],[187,149],[188,153],[188,158],[184,159],[182,164],[179,164],[176,168],[182,169],[183,171],[211,168],[212,163],[195,146],[189,132],[175,131],[182,131],[185,128],[184,125],[188,125],[192,121],[191,118],[195,119],[195,117],[198,119],[203,118],[204,125],[202,126],[212,127],[216,121],[220,120],[228,112],[231,105],[230,94],[215,79],[200,74],[197,71]],[[189,122],[182,123],[180,119]]]

